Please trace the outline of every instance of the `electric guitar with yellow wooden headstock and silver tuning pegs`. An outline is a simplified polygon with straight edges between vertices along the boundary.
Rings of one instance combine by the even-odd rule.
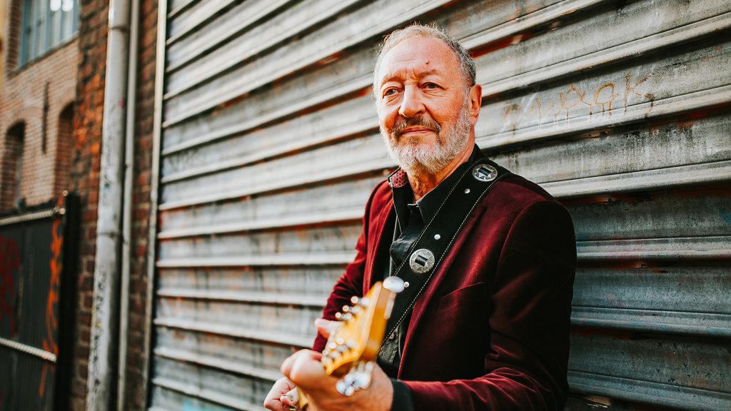
[[[327,339],[320,362],[325,374],[342,377],[336,385],[338,393],[352,396],[371,384],[371,372],[381,349],[393,301],[402,290],[404,282],[401,279],[388,277],[385,285],[376,282],[363,298],[351,298],[352,305],[344,306],[342,312],[336,314],[342,323]],[[298,394],[299,409],[306,410],[308,400],[299,388]]]

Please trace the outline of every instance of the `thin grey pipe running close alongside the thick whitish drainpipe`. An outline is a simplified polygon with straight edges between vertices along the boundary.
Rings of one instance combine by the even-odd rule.
[[[137,31],[140,0],[132,0],[129,21],[129,69],[127,70],[127,112],[124,136],[124,200],[122,205],[122,278],[119,299],[119,363],[117,410],[125,409],[127,341],[129,339],[129,270],[132,253],[132,178],[135,172],[135,108],[137,107]]]

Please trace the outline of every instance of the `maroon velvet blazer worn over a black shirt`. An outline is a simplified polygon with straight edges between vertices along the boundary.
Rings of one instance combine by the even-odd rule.
[[[393,234],[384,230],[393,212],[383,181],[324,318],[380,280],[373,258],[382,235]],[[497,181],[414,305],[398,379],[415,409],[562,409],[575,261],[566,208],[519,176]],[[314,350],[324,347],[318,337]]]

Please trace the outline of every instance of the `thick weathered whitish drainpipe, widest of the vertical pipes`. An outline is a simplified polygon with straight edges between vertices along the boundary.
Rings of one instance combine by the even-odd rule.
[[[114,406],[116,344],[119,320],[121,203],[124,179],[129,0],[109,5],[105,76],[102,161],[96,220],[94,302],[88,362],[86,408],[106,411]]]

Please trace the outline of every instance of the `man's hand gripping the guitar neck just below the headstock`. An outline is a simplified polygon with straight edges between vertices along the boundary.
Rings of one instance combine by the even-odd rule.
[[[336,391],[338,377],[325,374],[320,363],[322,354],[301,350],[289,356],[281,365],[281,372],[306,393],[311,410],[327,411],[389,411],[393,402],[393,385],[379,366],[374,366],[371,385],[352,396]],[[270,409],[271,410],[271,409]]]

